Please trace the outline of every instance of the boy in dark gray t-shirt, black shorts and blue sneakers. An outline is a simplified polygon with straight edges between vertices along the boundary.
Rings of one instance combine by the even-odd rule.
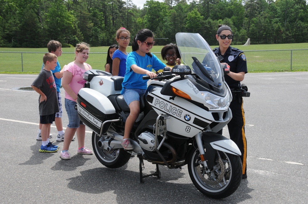
[[[50,126],[55,121],[55,113],[59,112],[57,87],[51,70],[57,66],[57,56],[46,53],[43,57],[44,68],[33,81],[31,87],[39,93],[39,115],[42,124],[42,145],[39,152],[56,152],[58,146],[49,141]]]

